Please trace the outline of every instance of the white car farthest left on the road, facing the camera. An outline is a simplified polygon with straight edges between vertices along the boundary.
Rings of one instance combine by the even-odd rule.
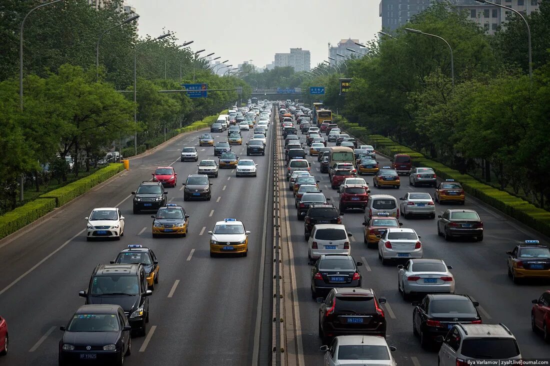
[[[86,217],[86,240],[114,238],[124,235],[124,216],[116,207],[100,207]]]

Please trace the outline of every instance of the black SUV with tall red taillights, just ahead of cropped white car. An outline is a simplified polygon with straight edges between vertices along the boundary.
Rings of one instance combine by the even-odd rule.
[[[319,308],[319,337],[328,345],[344,335],[386,337],[386,317],[372,288],[333,288]]]

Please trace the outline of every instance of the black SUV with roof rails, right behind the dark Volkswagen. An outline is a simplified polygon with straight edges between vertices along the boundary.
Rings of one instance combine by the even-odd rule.
[[[89,304],[120,305],[136,334],[145,336],[149,323],[149,296],[147,275],[141,264],[98,264],[92,272],[87,291],[80,297]]]

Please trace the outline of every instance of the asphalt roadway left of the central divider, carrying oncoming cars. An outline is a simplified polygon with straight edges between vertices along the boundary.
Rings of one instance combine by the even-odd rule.
[[[184,202],[182,183],[188,174],[196,174],[197,163],[180,162],[180,150],[196,146],[199,161],[218,160],[213,148],[199,147],[204,132],[180,135],[153,154],[131,160],[130,171],[62,207],[31,232],[0,244],[7,268],[0,276],[0,314],[8,321],[10,335],[10,352],[0,358],[0,365],[57,365],[59,326],[84,304],[78,292],[86,289],[97,264],[108,264],[128,244],[155,251],[160,283],[149,298],[147,335],[133,338],[125,364],[245,365],[255,359],[254,349],[266,351],[260,357],[265,364],[271,356],[271,289],[266,289],[266,302],[260,289],[261,269],[271,274],[271,252],[262,252],[262,243],[273,235],[272,223],[266,220],[267,210],[272,210],[266,204],[272,191],[272,130],[265,156],[246,156],[252,131],[243,132],[243,145],[232,147],[239,157],[254,159],[257,178],[237,178],[234,170],[221,169],[218,178],[211,178],[211,201]],[[216,142],[227,141],[227,132],[212,135]],[[185,207],[190,229],[185,238],[153,239],[155,212],[134,215],[130,193],[141,181],[151,180],[157,166],[167,165],[178,173],[177,187],[167,188],[168,201]],[[120,241],[86,242],[85,217],[94,207],[109,206],[120,207],[125,216],[125,235]],[[245,258],[210,258],[207,231],[226,217],[243,221],[251,231]],[[260,329],[262,320],[268,326]]]

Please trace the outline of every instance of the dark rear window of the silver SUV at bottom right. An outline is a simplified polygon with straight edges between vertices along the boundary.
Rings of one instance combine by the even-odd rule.
[[[461,353],[476,359],[505,359],[519,356],[519,347],[513,338],[469,338],[462,342]]]

